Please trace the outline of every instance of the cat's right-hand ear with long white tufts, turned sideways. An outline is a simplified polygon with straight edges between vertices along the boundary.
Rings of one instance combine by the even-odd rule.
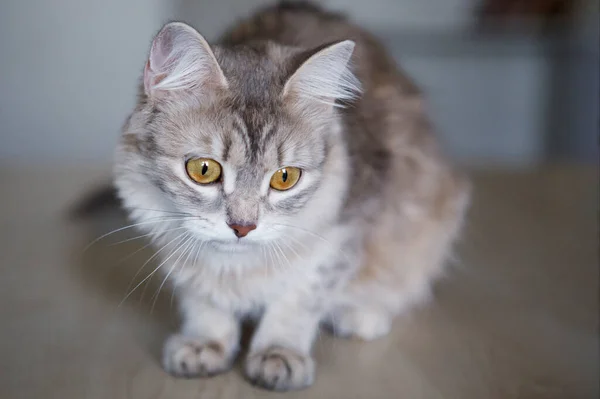
[[[284,98],[316,100],[330,105],[360,94],[360,82],[350,69],[354,42],[344,40],[320,48],[298,67],[283,88]]]

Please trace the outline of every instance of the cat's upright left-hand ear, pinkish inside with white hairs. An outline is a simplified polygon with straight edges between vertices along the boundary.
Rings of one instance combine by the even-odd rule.
[[[227,87],[227,80],[202,35],[181,22],[165,25],[144,68],[146,95],[218,86]]]

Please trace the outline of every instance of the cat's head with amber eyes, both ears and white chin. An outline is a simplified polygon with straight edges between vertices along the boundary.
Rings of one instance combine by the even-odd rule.
[[[359,90],[353,49],[211,48],[193,28],[166,25],[117,156],[135,221],[223,252],[318,234],[347,191],[336,100]]]

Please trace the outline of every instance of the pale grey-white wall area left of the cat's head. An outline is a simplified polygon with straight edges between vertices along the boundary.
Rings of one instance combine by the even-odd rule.
[[[168,0],[3,0],[0,160],[106,161]]]

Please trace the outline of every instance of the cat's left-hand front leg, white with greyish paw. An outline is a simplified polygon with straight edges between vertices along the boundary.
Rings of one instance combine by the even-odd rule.
[[[183,326],[163,349],[163,367],[176,377],[209,377],[227,371],[239,350],[240,325],[230,312],[200,300],[182,302]]]

